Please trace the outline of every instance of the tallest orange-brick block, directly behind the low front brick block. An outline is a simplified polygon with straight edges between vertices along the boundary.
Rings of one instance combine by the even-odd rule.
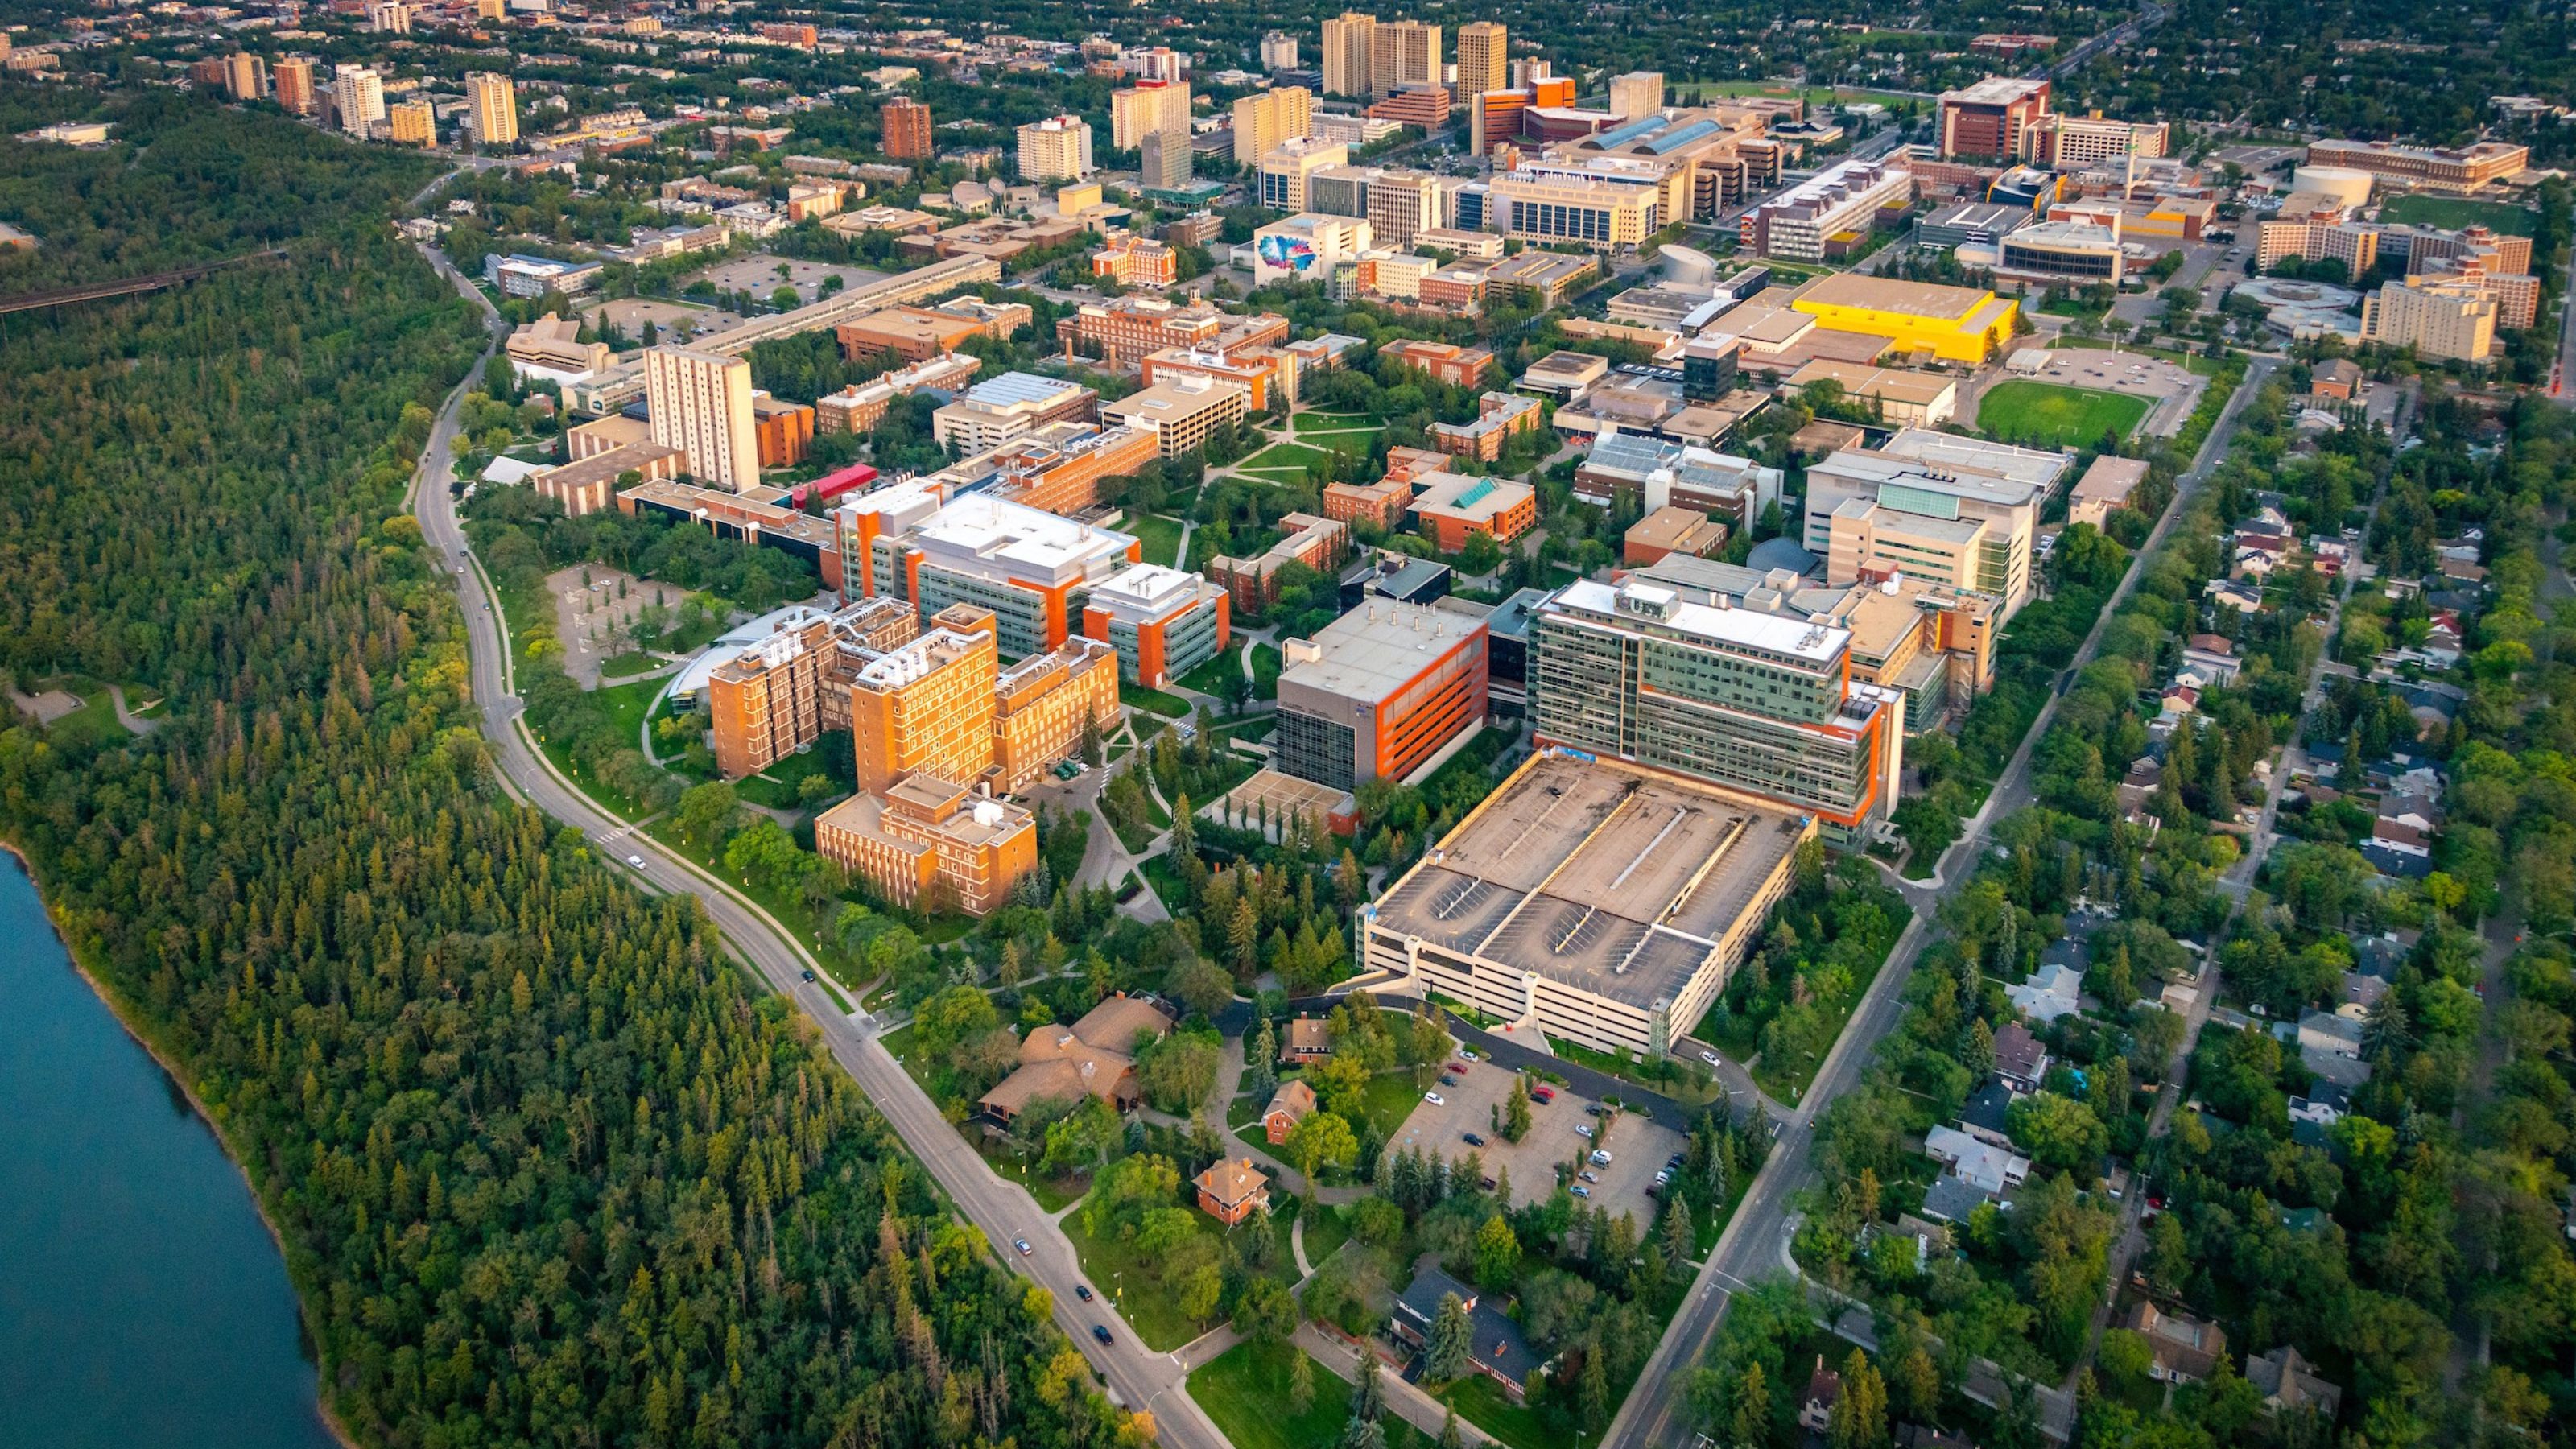
[[[850,755],[860,794],[927,771],[976,781],[994,766],[992,611],[951,606],[920,639],[868,660],[850,681]]]

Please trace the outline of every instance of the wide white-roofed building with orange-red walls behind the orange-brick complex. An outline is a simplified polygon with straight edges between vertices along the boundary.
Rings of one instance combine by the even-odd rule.
[[[1133,534],[989,492],[945,500],[920,482],[855,498],[835,523],[842,557],[860,559],[860,593],[909,598],[925,619],[951,603],[989,608],[1012,660],[1079,634],[1079,596],[1144,554]]]

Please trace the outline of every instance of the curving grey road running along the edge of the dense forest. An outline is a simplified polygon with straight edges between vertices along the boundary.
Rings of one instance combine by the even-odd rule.
[[[453,268],[430,253],[433,266],[440,268],[459,291],[482,302]],[[489,304],[484,304],[489,312]],[[489,322],[497,327],[500,317],[492,315]],[[1028,1279],[1043,1284],[1056,1294],[1056,1325],[1064,1328],[1066,1338],[1092,1361],[1092,1366],[1108,1382],[1115,1403],[1126,1408],[1141,1408],[1154,1415],[1157,1434],[1162,1444],[1172,1449],[1231,1449],[1226,1436],[1208,1421],[1206,1413],[1180,1392],[1188,1377],[1180,1364],[1167,1354],[1149,1351],[1136,1333],[1103,1310],[1097,1302],[1079,1302],[1074,1297],[1074,1284],[1082,1279],[1082,1266],[1074,1256],[1074,1245],[1056,1230],[1054,1220],[1038,1207],[1038,1201],[1020,1189],[997,1178],[984,1160],[958,1137],[938,1106],[922,1093],[920,1083],[904,1075],[904,1067],[886,1055],[878,1042],[878,1024],[868,1016],[842,1013],[840,1003],[819,985],[806,980],[806,972],[819,972],[819,964],[796,938],[770,918],[757,905],[744,897],[732,895],[724,882],[698,869],[693,861],[662,848],[649,833],[636,830],[592,804],[590,797],[580,794],[569,781],[564,781],[554,766],[536,750],[526,724],[520,722],[520,701],[510,694],[507,678],[507,650],[502,647],[500,616],[492,611],[492,590],[484,585],[482,567],[471,559],[464,531],[456,523],[456,503],[448,495],[448,459],[451,443],[456,438],[459,413],[464,407],[464,394],[479,382],[477,369],[466,382],[448,394],[448,405],[438,413],[438,423],[430,431],[430,446],[420,459],[420,474],[415,477],[412,511],[420,518],[420,531],[428,539],[440,567],[456,580],[456,598],[466,616],[466,647],[471,657],[471,691],[477,712],[482,717],[484,740],[492,745],[492,768],[500,776],[505,792],[513,799],[544,810],[549,817],[582,830],[611,861],[626,861],[629,856],[641,859],[641,866],[631,869],[639,884],[652,892],[688,892],[696,895],[706,908],[706,915],[724,931],[724,938],[734,951],[760,972],[760,977],[778,995],[793,1000],[814,1024],[819,1026],[824,1047],[832,1060],[848,1070],[868,1101],[886,1114],[886,1122],[904,1137],[904,1145],[930,1168],[930,1176],[940,1183],[948,1199],[958,1207],[966,1222],[984,1230],[992,1240],[1005,1266],[1025,1274]],[[1028,1238],[1030,1253],[1020,1256],[1010,1248],[1012,1238]],[[1079,1310],[1079,1312],[1077,1312]],[[1092,1338],[1092,1323],[1108,1323],[1113,1343],[1103,1348]]]

